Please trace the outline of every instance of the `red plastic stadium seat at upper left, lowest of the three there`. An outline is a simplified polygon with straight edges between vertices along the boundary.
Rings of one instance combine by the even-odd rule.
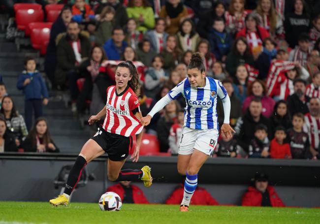
[[[31,45],[34,49],[41,50],[45,44],[47,45],[49,43],[51,26],[52,23],[29,24],[28,27],[31,31]]]

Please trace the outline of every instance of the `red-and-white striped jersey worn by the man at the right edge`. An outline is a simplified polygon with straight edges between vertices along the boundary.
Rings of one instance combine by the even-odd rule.
[[[311,146],[314,149],[319,149],[320,118],[316,119],[310,113],[305,114],[303,130],[308,133]]]

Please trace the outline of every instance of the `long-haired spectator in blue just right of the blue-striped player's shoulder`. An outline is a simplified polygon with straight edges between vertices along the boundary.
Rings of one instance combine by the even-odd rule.
[[[235,96],[240,99],[241,104],[247,97],[248,71],[245,65],[241,64],[236,69],[235,79],[232,84]]]

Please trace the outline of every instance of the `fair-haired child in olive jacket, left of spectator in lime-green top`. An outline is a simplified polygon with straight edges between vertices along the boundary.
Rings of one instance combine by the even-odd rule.
[[[96,28],[97,44],[103,45],[105,41],[111,38],[115,14],[116,12],[111,6],[105,6],[102,9],[99,16],[100,21]]]

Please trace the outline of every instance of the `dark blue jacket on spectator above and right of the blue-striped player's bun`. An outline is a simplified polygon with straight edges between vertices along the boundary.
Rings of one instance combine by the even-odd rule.
[[[211,52],[216,56],[218,61],[221,61],[222,56],[226,56],[230,52],[232,46],[232,37],[227,32],[218,32],[215,29],[210,29],[208,33]]]

